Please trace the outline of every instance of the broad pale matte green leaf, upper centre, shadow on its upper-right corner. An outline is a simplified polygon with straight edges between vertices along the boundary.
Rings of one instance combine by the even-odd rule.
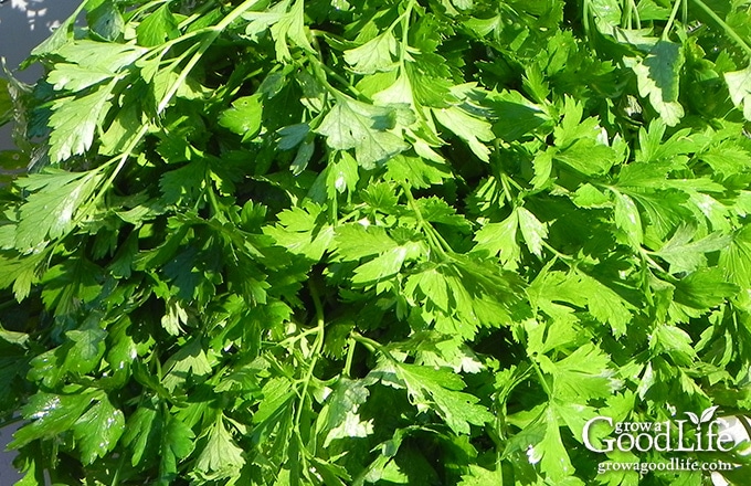
[[[410,146],[391,130],[395,113],[388,108],[368,105],[347,96],[326,115],[318,133],[326,136],[329,147],[337,150],[355,149],[355,158],[366,169],[385,162]]]

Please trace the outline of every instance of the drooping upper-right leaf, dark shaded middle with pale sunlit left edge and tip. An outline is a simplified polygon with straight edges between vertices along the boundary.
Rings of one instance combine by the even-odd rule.
[[[685,57],[679,44],[659,41],[644,60],[634,64],[638,92],[660,115],[668,126],[675,126],[684,117],[678,102],[680,70]]]

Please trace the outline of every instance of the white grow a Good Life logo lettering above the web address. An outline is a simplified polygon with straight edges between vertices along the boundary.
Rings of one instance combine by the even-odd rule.
[[[712,420],[717,406],[705,410],[701,415],[686,412],[688,420],[664,422],[614,422],[610,416],[595,416],[584,424],[582,439],[592,452],[658,451],[658,452],[729,452],[736,445],[733,436],[724,432],[722,419]],[[611,436],[592,443],[592,427],[607,425]]]

